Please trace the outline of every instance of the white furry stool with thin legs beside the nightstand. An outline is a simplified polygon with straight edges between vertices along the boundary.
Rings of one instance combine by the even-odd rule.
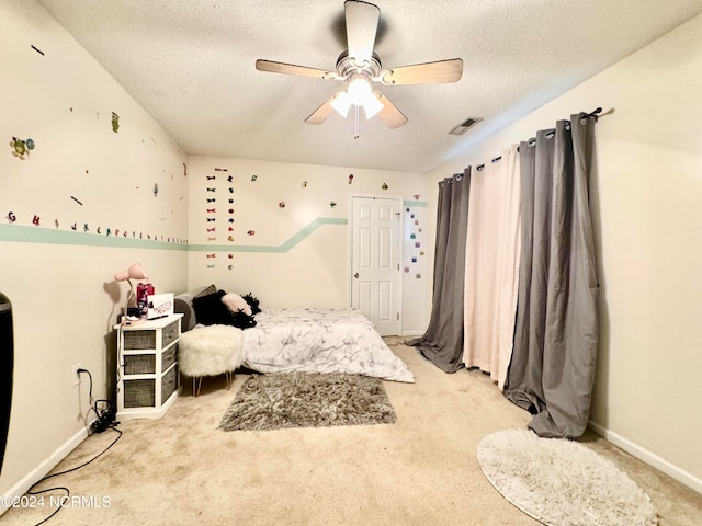
[[[244,362],[242,331],[230,325],[205,325],[181,334],[178,342],[178,366],[193,379],[193,395],[200,395],[203,376],[225,374],[231,388],[234,370]],[[199,379],[195,390],[195,379]]]

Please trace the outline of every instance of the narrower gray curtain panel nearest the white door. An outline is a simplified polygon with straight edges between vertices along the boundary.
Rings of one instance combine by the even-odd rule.
[[[439,183],[431,317],[421,338],[405,342],[445,373],[455,373],[463,367],[463,287],[469,195],[469,168],[463,174]]]

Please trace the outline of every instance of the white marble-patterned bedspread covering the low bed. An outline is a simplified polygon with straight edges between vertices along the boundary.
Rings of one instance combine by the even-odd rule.
[[[355,309],[267,309],[244,331],[244,365],[259,373],[349,373],[414,382],[407,365]]]

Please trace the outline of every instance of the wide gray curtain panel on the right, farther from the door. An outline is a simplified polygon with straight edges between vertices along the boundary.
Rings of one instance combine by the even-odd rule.
[[[534,414],[529,427],[544,437],[585,432],[595,379],[593,118],[584,117],[520,145],[522,253],[505,396]]]

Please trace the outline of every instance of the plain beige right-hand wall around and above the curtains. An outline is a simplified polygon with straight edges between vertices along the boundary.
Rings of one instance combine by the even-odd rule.
[[[702,491],[702,16],[432,173],[602,106],[591,206],[600,297],[591,422]],[[475,132],[478,133],[479,128]]]

